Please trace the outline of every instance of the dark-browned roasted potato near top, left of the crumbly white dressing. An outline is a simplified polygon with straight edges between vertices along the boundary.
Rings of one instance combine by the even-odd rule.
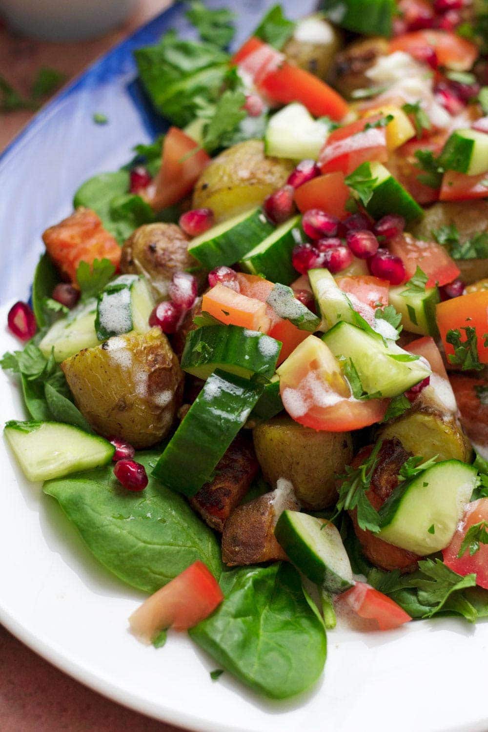
[[[379,56],[388,53],[386,38],[367,38],[350,43],[344,51],[337,53],[329,72],[329,81],[342,94],[350,97],[355,89],[374,86],[364,72],[374,66]]]

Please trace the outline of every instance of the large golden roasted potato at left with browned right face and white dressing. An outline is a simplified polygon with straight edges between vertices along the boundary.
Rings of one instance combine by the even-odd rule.
[[[143,448],[168,434],[184,377],[159,328],[84,348],[63,361],[61,369],[76,406],[100,435]]]

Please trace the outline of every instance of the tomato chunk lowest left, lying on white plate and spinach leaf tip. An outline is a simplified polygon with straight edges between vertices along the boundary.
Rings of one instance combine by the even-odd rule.
[[[213,613],[223,599],[214,575],[202,561],[195,561],[132,613],[130,630],[143,643],[151,643],[162,630],[192,628]]]

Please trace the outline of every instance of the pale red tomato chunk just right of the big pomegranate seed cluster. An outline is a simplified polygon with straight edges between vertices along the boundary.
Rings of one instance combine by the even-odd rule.
[[[411,234],[399,234],[390,242],[391,253],[396,254],[403,264],[407,280],[415,275],[417,266],[427,277],[427,287],[447,285],[459,277],[459,268],[446,249],[435,242],[423,242]]]

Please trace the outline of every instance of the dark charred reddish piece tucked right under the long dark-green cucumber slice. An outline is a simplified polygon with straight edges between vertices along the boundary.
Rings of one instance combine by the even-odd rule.
[[[189,502],[203,520],[222,533],[229,518],[249,490],[259,470],[252,441],[239,433],[215,468],[215,477]]]

